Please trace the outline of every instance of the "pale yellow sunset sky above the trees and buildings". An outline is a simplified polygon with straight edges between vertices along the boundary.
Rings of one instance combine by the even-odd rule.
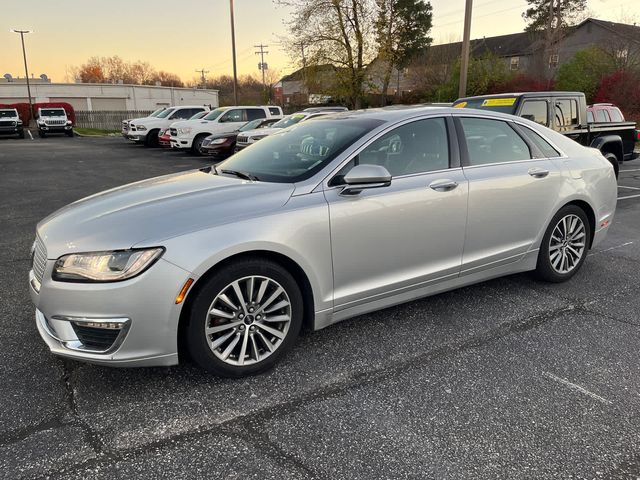
[[[460,40],[465,0],[431,0],[434,43]],[[24,76],[20,36],[25,36],[30,73],[64,82],[68,67],[92,56],[118,55],[143,60],[157,70],[189,81],[232,74],[231,27],[227,0],[0,0],[0,76]],[[271,70],[290,73],[294,66],[278,45],[286,34],[288,10],[271,0],[235,0],[238,73],[258,75],[254,45],[268,45]],[[475,0],[471,37],[522,31],[526,0]],[[588,0],[591,16],[640,23],[639,0]]]

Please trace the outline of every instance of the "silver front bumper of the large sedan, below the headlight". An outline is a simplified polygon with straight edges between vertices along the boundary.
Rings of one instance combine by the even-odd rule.
[[[178,363],[182,304],[176,305],[175,298],[189,272],[160,259],[123,282],[72,283],[51,279],[54,263],[47,260],[39,291],[34,288],[33,272],[29,275],[36,325],[53,354],[122,367]],[[118,329],[112,343],[96,347],[91,342],[96,330],[86,327],[96,324],[113,324]]]

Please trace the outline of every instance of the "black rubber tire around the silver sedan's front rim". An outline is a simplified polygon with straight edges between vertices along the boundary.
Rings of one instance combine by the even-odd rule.
[[[275,350],[268,354],[266,358],[256,363],[239,366],[231,365],[221,358],[218,358],[210,347],[211,341],[205,334],[207,325],[213,325],[213,320],[209,317],[209,311],[212,308],[216,297],[222,293],[232,282],[246,277],[260,276],[272,279],[277,282],[284,290],[290,301],[290,321],[288,330],[281,342],[276,346]],[[257,288],[257,287],[256,287]],[[245,290],[246,295],[246,290]],[[300,287],[294,280],[293,276],[281,267],[279,264],[265,260],[262,258],[246,258],[230,263],[216,272],[214,276],[206,280],[206,282],[195,292],[195,297],[191,302],[189,312],[189,323],[186,327],[186,342],[191,358],[202,368],[216,375],[224,377],[244,377],[247,375],[255,375],[264,372],[275,365],[275,363],[285,355],[291,347],[293,347],[302,326],[303,316],[303,300]],[[266,298],[267,295],[265,295]],[[254,294],[257,298],[257,295]],[[234,299],[237,302],[237,297]],[[230,320],[231,321],[231,320]],[[210,323],[211,322],[211,323]],[[256,322],[257,324],[257,322]],[[265,322],[266,324],[266,322]],[[269,324],[275,325],[275,324]],[[249,326],[246,327],[244,333],[236,332],[236,329],[245,329],[244,324],[235,327],[233,332],[240,338],[242,335],[249,336]],[[255,325],[251,328],[256,329]],[[256,329],[259,330],[259,329]],[[228,332],[229,330],[225,330]],[[221,334],[222,335],[222,334]],[[233,335],[233,334],[232,334]],[[257,336],[256,336],[257,337]],[[218,337],[219,338],[219,337]],[[232,336],[231,342],[235,337]],[[275,338],[275,337],[274,337]],[[230,343],[231,343],[230,342]],[[263,347],[262,354],[267,352],[266,345],[259,342]],[[237,343],[236,343],[237,344]],[[222,344],[219,347],[221,353],[223,347],[228,344]],[[225,348],[226,349],[226,348]],[[251,358],[251,349],[248,356]],[[233,356],[233,355],[232,355]],[[240,357],[236,355],[236,361]],[[257,357],[257,356],[256,356]]]

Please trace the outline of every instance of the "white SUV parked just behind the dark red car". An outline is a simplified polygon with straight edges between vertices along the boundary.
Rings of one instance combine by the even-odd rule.
[[[282,108],[276,106],[234,106],[212,110],[200,120],[171,125],[171,148],[190,149],[200,154],[200,146],[209,135],[230,133],[251,120],[282,118]]]

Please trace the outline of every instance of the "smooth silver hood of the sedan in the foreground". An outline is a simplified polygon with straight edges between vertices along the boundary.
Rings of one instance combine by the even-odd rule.
[[[292,184],[193,170],[151,178],[74,202],[42,220],[48,258],[162,245],[162,240],[280,208]]]

